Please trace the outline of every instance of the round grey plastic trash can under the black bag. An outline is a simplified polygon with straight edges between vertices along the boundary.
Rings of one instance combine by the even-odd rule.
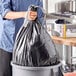
[[[54,66],[47,67],[27,67],[19,66],[16,64],[12,65],[12,76],[63,76],[60,72],[61,63]]]

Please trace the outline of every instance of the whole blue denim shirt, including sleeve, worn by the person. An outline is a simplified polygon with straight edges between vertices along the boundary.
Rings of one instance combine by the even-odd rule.
[[[12,52],[14,40],[24,19],[9,20],[4,16],[9,11],[27,11],[30,5],[42,7],[41,0],[0,0],[0,48]],[[38,18],[41,21],[43,13],[38,9]],[[41,21],[42,22],[42,21]]]

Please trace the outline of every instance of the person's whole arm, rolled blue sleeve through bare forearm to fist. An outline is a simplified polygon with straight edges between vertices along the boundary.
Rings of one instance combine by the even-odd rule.
[[[0,15],[3,19],[17,19],[17,18],[26,18],[26,12],[16,12],[12,11],[12,6],[10,0],[1,0],[0,1]],[[37,12],[29,11],[27,18],[29,20],[34,20],[37,16]]]

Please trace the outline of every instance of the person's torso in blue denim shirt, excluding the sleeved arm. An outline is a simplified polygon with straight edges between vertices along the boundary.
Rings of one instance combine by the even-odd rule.
[[[38,0],[10,0],[10,3],[12,5],[12,11],[18,12],[27,11],[30,5],[38,5]],[[12,52],[16,34],[22,26],[23,21],[23,18],[3,20],[0,15],[0,48]]]

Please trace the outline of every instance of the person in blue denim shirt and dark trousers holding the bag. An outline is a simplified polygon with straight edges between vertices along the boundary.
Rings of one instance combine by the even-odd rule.
[[[0,0],[0,76],[12,76],[10,61],[18,30],[24,18],[41,21],[42,11],[27,11],[30,5],[42,7],[41,0]],[[26,16],[28,13],[28,16]]]

